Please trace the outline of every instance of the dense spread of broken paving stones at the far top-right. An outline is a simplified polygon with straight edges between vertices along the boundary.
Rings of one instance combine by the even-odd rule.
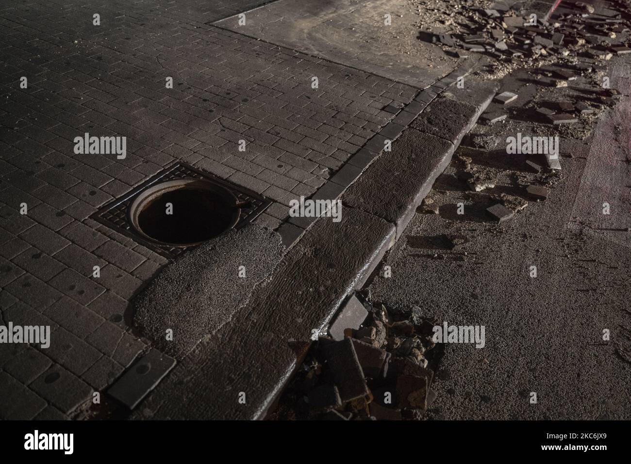
[[[628,31],[628,7],[620,1],[611,2],[615,9],[595,13],[585,3],[563,3],[570,13],[547,21],[524,8],[518,2],[473,4],[446,1],[440,8],[442,15],[452,16],[439,20],[444,33],[424,30],[420,38],[441,45],[454,57],[468,57],[472,52],[488,54],[500,62],[519,66],[540,66],[540,57],[576,57],[585,53],[597,60],[608,60],[613,54],[628,54],[631,49],[620,39]],[[486,5],[486,6],[484,6]],[[602,14],[604,13],[604,14]]]

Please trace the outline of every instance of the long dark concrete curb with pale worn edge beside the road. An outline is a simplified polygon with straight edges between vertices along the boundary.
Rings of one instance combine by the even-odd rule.
[[[239,323],[227,323],[203,340],[132,418],[263,418],[300,365],[314,330],[324,330],[363,286],[497,90],[495,83],[467,86],[437,98],[408,129],[401,126],[403,136],[391,153],[358,153],[372,159],[341,196],[341,222],[318,218],[247,306],[234,313]],[[431,101],[436,95],[417,97],[428,96]],[[345,188],[339,187],[333,198]]]

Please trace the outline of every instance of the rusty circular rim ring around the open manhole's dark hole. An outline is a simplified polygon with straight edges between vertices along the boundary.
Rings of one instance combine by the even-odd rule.
[[[222,233],[216,235],[215,237],[210,237],[208,238],[208,240],[212,240],[213,238],[216,238],[217,236],[223,235],[230,229],[235,228],[237,223],[239,223],[241,209],[239,207],[239,199],[237,198],[236,195],[230,192],[230,190],[228,190],[227,188],[222,187],[221,185],[216,185],[215,183],[209,182],[208,180],[185,178],[185,179],[168,180],[166,182],[160,182],[155,185],[152,185],[146,190],[143,190],[143,192],[141,192],[138,195],[138,197],[134,199],[134,201],[129,205],[129,209],[127,211],[127,216],[129,217],[129,222],[131,223],[131,226],[134,229],[134,232],[142,236],[144,240],[150,240],[151,242],[158,243],[159,245],[173,246],[175,248],[187,248],[189,246],[200,245],[201,243],[204,243],[204,241],[208,241],[208,240],[201,240],[201,241],[196,241],[193,243],[169,243],[167,241],[157,240],[156,238],[153,238],[147,235],[146,233],[144,233],[143,229],[140,227],[138,223],[138,218],[139,218],[140,213],[143,211],[145,206],[150,204],[152,200],[168,192],[172,192],[174,190],[180,190],[182,188],[187,188],[190,190],[205,190],[208,192],[212,192],[214,194],[218,194],[220,195],[220,197],[223,197],[226,200],[228,207],[230,206],[233,207],[232,221],[230,221],[230,224],[225,228],[225,230]]]

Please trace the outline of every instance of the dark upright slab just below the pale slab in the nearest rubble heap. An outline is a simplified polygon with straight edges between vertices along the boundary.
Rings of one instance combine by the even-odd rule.
[[[370,395],[350,338],[327,345],[324,353],[342,402]]]

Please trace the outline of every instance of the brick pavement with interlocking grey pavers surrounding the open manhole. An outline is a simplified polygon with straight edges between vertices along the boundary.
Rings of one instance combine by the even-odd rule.
[[[184,161],[275,200],[259,223],[277,228],[415,95],[205,24],[257,2],[208,3],[0,7],[1,317],[54,340],[0,344],[0,419],[71,415],[149,349],[127,306],[167,260],[90,219],[98,207]],[[74,154],[84,132],[126,136],[126,158]]]

